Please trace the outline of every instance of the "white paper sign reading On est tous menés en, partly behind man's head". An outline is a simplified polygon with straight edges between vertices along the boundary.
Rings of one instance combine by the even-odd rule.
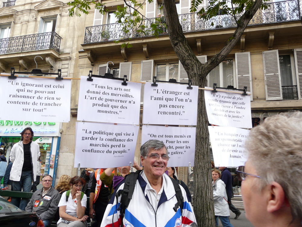
[[[170,157],[168,166],[194,166],[196,128],[144,126],[142,144],[148,140],[162,141]]]

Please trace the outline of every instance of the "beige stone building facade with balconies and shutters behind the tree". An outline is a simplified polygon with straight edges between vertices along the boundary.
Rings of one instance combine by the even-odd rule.
[[[177,55],[172,49],[161,1],[146,3],[140,12],[148,19],[143,23],[158,24],[158,38],[137,29],[123,32],[114,12],[124,1],[104,0],[108,12],[91,9],[88,15],[69,17],[68,1],[2,2],[0,8],[0,70],[31,71],[36,68],[34,57],[43,72],[62,70],[62,76],[79,78],[92,74],[114,77],[127,75],[130,81],[187,82]],[[207,1],[204,2],[207,4]],[[240,41],[226,59],[208,75],[208,86],[243,89],[251,95],[253,125],[265,117],[302,108],[302,28],[301,2],[269,1],[267,9],[250,21]],[[190,12],[190,1],[176,1],[179,21],[194,54],[201,62],[212,58],[235,31],[234,19],[217,15],[203,21]],[[199,8],[204,5],[199,6]],[[129,39],[131,38],[131,39]],[[121,48],[114,40],[129,42],[131,48]],[[121,41],[121,42],[122,42]],[[107,67],[108,65],[108,67]],[[109,69],[108,69],[109,68]],[[71,117],[63,123],[57,156],[56,176],[76,175],[74,166],[75,124],[78,108],[79,81],[72,81]],[[143,104],[143,103],[141,103]],[[140,121],[141,122],[141,121]],[[140,133],[138,141],[140,141]],[[255,141],[256,142],[256,141]],[[137,144],[137,161],[139,157]],[[179,168],[181,179],[187,181],[187,169]]]

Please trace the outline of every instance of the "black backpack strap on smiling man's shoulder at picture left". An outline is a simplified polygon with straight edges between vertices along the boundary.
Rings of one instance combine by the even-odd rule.
[[[135,173],[130,173],[125,177],[125,183],[124,183],[124,189],[119,190],[116,193],[116,198],[118,198],[121,195],[120,198],[120,206],[117,208],[117,210],[120,211],[121,219],[124,218],[125,210],[128,207],[130,200],[133,196],[133,191],[135,188],[135,184],[138,178],[138,175],[140,174],[142,170],[137,170]]]

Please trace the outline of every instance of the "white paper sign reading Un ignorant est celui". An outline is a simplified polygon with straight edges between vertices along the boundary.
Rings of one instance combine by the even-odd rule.
[[[0,77],[0,120],[69,122],[71,80]]]

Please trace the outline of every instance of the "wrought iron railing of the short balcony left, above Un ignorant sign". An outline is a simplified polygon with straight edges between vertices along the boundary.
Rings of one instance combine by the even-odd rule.
[[[54,49],[59,52],[61,39],[54,31],[4,38],[0,39],[0,54],[40,49]]]

